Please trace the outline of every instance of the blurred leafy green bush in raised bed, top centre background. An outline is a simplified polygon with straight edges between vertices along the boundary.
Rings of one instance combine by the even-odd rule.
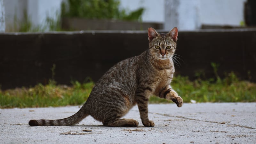
[[[62,17],[139,21],[144,8],[132,12],[119,8],[119,0],[68,0],[61,4]]]

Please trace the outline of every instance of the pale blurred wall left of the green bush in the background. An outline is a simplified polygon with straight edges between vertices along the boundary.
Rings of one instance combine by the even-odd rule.
[[[47,16],[56,18],[60,14],[62,0],[5,0],[6,31],[15,31],[24,20],[24,12],[31,22],[37,26],[44,26]]]

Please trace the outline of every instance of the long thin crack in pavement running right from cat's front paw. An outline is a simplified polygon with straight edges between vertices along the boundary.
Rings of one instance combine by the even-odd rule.
[[[172,116],[172,115],[168,115],[168,114],[160,114],[160,113],[152,113],[152,112],[148,112],[148,113],[156,114],[156,115],[161,115],[161,116],[183,118],[183,119],[200,121],[200,122],[223,124],[223,122],[214,122],[214,121],[208,121],[208,120],[200,120],[200,119],[195,119],[195,118],[188,118],[188,117],[185,117],[185,116]],[[250,126],[244,126],[244,125],[239,125],[239,124],[228,124],[228,125],[229,126],[243,127],[243,128],[247,128],[247,129],[256,129],[256,128],[253,128],[253,127],[250,127]]]

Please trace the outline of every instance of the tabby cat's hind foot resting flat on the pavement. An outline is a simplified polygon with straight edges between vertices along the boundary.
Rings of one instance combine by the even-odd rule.
[[[106,120],[105,122],[103,122],[103,125],[105,126],[130,126],[130,127],[134,127],[134,126],[138,126],[139,122],[133,119],[115,119],[115,120]]]

